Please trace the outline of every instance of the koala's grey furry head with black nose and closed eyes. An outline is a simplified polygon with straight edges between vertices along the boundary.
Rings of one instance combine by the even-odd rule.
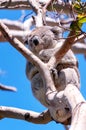
[[[53,48],[56,45],[58,35],[57,27],[43,26],[36,28],[28,36],[28,47],[34,54],[38,54],[43,49]]]

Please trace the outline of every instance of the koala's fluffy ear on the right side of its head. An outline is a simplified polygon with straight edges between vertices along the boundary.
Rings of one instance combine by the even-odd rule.
[[[51,28],[51,31],[54,33],[56,39],[62,38],[62,28],[54,26]]]

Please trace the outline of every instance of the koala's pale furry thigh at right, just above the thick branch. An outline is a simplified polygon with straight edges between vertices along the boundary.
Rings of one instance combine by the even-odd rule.
[[[77,67],[65,68],[58,71],[58,80],[55,82],[57,90],[64,90],[68,84],[73,84],[77,88],[80,88],[80,78]]]

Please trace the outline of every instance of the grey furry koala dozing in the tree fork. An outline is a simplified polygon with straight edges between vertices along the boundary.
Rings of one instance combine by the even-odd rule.
[[[28,48],[39,57],[44,63],[59,50],[64,40],[59,38],[60,29],[57,27],[39,27],[28,36]],[[42,76],[36,66],[27,61],[26,75],[31,81],[33,95],[46,107],[48,103],[45,97],[45,87]],[[52,70],[52,77],[58,92],[65,89],[68,84],[73,84],[77,88],[80,86],[77,59],[70,49],[60,62]]]

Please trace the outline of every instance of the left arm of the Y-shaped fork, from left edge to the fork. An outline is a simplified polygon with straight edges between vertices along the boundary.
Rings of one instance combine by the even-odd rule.
[[[35,56],[29,49],[27,49],[17,38],[13,37],[10,34],[7,26],[2,22],[0,22],[0,30],[3,33],[4,37],[9,41],[9,43],[14,48],[16,48],[24,57],[26,57],[27,60],[35,64],[39,68],[39,71],[43,69],[43,67],[41,68],[41,66],[44,66],[44,63],[37,56]]]

